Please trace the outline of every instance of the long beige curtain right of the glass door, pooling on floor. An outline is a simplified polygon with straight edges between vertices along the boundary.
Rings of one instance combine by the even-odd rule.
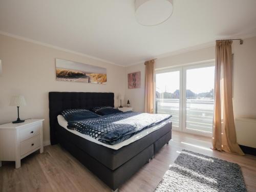
[[[232,104],[232,52],[230,40],[216,42],[214,150],[244,155],[237,143]]]

